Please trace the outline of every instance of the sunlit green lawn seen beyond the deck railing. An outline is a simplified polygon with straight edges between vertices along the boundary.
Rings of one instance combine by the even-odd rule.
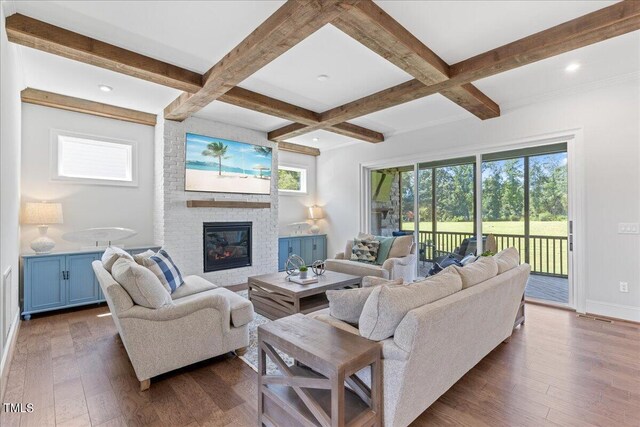
[[[566,221],[531,221],[531,234],[534,236],[567,236]],[[413,223],[405,222],[403,230],[412,230]],[[431,231],[431,222],[421,222],[420,230]],[[439,222],[438,231],[473,233],[472,222]],[[524,234],[522,221],[486,221],[482,224],[483,233]]]

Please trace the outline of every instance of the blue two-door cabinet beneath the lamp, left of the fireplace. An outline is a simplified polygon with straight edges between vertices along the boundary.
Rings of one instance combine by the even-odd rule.
[[[131,254],[157,247],[128,250]],[[20,303],[25,320],[33,313],[96,304],[105,300],[91,263],[103,251],[24,255]]]

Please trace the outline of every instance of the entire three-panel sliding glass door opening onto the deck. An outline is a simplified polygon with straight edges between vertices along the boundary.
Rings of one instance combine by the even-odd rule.
[[[368,231],[383,236],[417,231],[419,276],[451,255],[515,247],[532,269],[527,298],[568,304],[567,159],[567,144],[559,143],[372,170]],[[478,186],[481,206],[476,206]]]

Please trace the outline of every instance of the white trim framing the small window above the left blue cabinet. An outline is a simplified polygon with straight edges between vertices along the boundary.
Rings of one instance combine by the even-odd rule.
[[[77,178],[61,176],[58,174],[59,162],[59,137],[67,136],[72,138],[82,138],[97,142],[108,142],[112,144],[121,144],[131,147],[131,181],[95,179],[95,178]],[[72,132],[61,129],[51,129],[51,138],[49,144],[49,178],[51,181],[67,184],[82,185],[107,185],[116,187],[137,187],[138,186],[138,141],[110,138],[101,135],[91,135],[86,133]]]

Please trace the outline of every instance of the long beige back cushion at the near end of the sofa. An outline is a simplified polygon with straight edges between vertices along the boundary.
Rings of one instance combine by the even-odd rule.
[[[376,286],[367,298],[360,315],[360,335],[374,341],[387,339],[393,336],[409,311],[445,298],[461,289],[462,280],[454,271],[440,273],[406,286]]]

